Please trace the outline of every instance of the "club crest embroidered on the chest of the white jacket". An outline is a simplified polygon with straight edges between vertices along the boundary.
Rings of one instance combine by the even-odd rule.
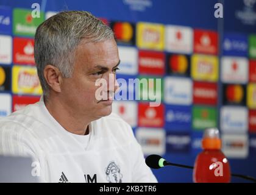
[[[123,175],[120,172],[119,166],[114,161],[108,164],[105,174],[109,183],[122,183]]]

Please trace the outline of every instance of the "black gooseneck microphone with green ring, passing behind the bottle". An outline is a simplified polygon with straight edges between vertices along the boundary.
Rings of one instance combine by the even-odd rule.
[[[165,160],[165,158],[162,158],[160,155],[157,154],[152,154],[149,155],[148,157],[146,157],[146,165],[149,166],[149,168],[152,169],[160,169],[164,166],[178,166],[178,167],[182,167],[182,168],[187,168],[187,169],[193,169],[193,166],[188,166],[188,165],[180,165],[180,164],[176,164],[176,163],[170,163],[168,161]],[[242,179],[246,179],[246,180],[250,180],[252,182],[256,182],[256,179],[254,179],[254,177],[251,176],[244,176],[241,174],[231,174],[231,176],[233,177],[239,177]]]

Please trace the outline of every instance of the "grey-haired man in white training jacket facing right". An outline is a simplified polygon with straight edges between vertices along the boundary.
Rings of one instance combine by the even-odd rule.
[[[32,156],[43,182],[157,182],[131,127],[110,115],[120,61],[108,26],[88,12],[58,13],[37,28],[35,62],[43,96],[1,119],[0,154]]]

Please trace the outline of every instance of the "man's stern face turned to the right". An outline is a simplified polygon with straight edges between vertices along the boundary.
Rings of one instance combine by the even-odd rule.
[[[109,87],[109,74],[115,74],[119,64],[115,40],[80,43],[74,55],[73,75],[63,79],[62,83],[60,96],[62,96],[63,103],[69,108],[70,114],[78,118],[85,117],[94,120],[110,115],[112,100],[99,101],[99,98],[95,97],[99,86],[95,83],[97,79],[105,79],[107,87],[104,91],[108,94],[108,99],[113,97],[117,86]],[[113,83],[113,80],[111,82]]]

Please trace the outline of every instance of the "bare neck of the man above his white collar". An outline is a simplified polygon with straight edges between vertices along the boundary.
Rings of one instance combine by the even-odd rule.
[[[59,124],[68,132],[77,135],[87,135],[89,133],[88,124],[91,121],[86,121],[84,118],[79,118],[76,112],[65,106],[57,99],[51,98],[44,101],[48,112]]]

